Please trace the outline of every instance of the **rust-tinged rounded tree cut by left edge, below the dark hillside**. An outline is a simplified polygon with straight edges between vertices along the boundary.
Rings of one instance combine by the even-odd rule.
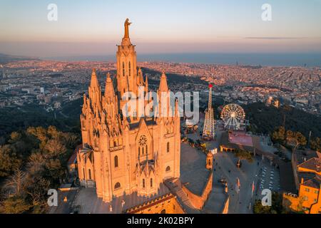
[[[0,177],[9,176],[16,168],[21,166],[21,160],[10,145],[0,146]]]

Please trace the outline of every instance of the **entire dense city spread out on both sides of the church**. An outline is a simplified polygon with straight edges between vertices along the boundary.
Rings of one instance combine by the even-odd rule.
[[[142,68],[152,69],[146,73],[152,81],[159,81],[161,72],[198,77],[213,83],[213,94],[228,102],[239,104],[265,101],[273,96],[281,104],[321,115],[320,68],[233,66],[203,63],[141,62]],[[96,68],[102,83],[106,72],[116,71],[116,63],[66,62],[66,61],[19,61],[6,63],[1,68],[0,106],[21,105],[35,102],[47,110],[54,103],[81,98],[86,92],[88,74]],[[156,72],[154,72],[156,71]],[[158,72],[158,73],[157,73]],[[170,81],[171,78],[168,78]],[[153,86],[153,83],[151,83]],[[41,88],[44,92],[41,93]],[[171,90],[203,91],[204,87],[193,83],[170,85]],[[57,101],[58,99],[58,101]]]

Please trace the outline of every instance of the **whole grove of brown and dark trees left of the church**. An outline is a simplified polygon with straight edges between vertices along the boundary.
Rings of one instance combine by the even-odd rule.
[[[6,199],[0,210],[45,212],[47,191],[66,177],[66,162],[70,149],[78,142],[77,135],[60,132],[53,126],[29,127],[11,133],[8,142],[0,146],[0,177],[8,177],[1,186]]]

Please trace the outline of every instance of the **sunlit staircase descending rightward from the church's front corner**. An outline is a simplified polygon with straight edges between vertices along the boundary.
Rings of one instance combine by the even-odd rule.
[[[182,183],[178,178],[166,180],[165,185],[170,189],[170,192],[177,197],[178,202],[187,214],[200,214],[200,210],[195,209],[190,199],[188,199],[188,196],[182,188]]]

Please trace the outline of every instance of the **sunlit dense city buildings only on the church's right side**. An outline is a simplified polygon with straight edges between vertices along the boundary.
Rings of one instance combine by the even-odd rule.
[[[265,102],[272,95],[282,103],[320,115],[321,69],[305,67],[223,66],[205,63],[144,62],[141,66],[213,83],[214,95],[239,103]]]

